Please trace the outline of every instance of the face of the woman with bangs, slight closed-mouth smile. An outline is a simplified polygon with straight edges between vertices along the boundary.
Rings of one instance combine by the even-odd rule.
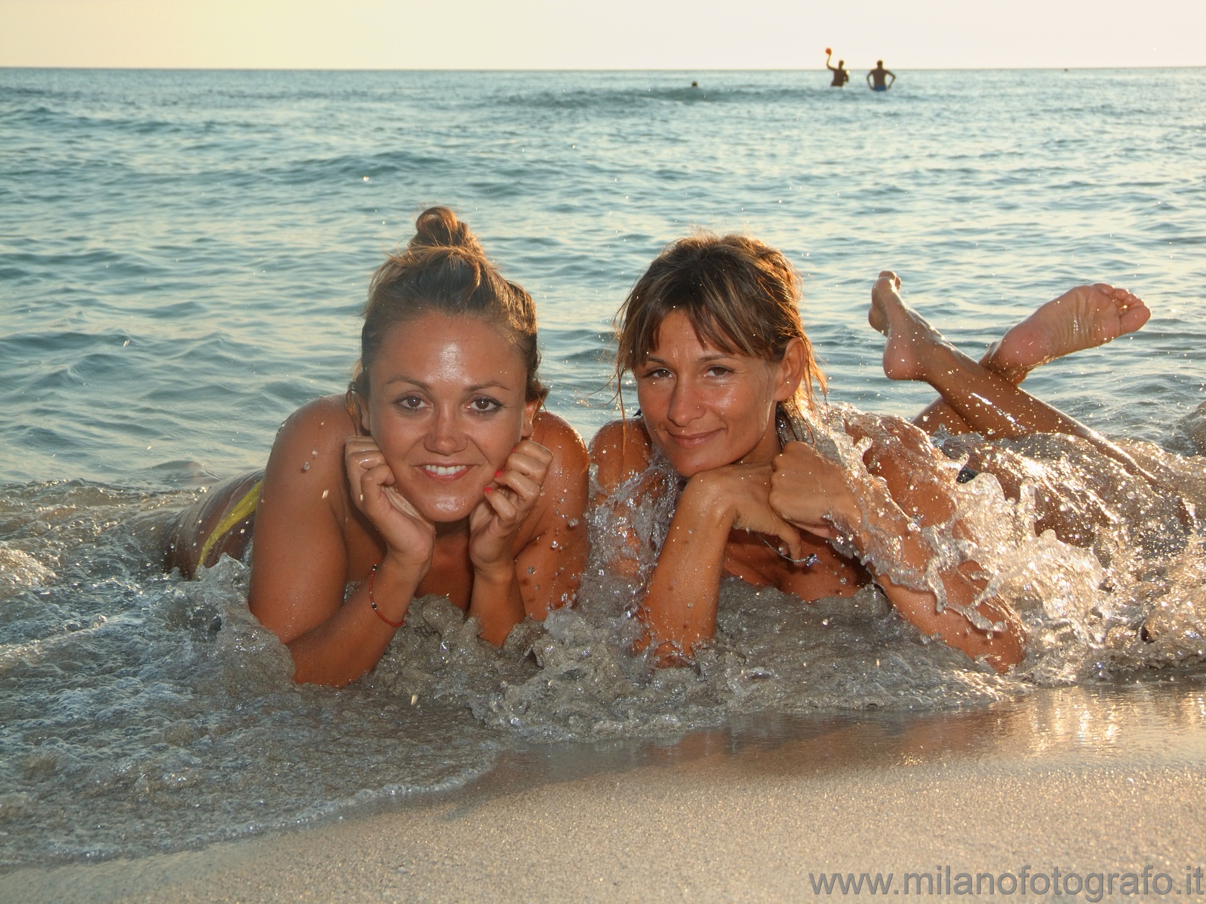
[[[701,342],[686,315],[672,312],[634,374],[650,436],[685,477],[769,462],[779,451],[775,403],[800,385],[796,357],[794,347],[781,362],[728,354]]]

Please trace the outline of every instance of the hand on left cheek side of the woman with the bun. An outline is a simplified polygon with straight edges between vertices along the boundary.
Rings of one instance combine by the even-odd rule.
[[[349,436],[344,462],[352,501],[373,522],[386,556],[421,581],[435,552],[435,526],[394,489],[394,475],[371,436]]]

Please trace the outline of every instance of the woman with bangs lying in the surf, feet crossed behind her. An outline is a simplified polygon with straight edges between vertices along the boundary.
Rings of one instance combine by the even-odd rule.
[[[952,492],[968,475],[929,433],[942,424],[994,438],[1072,434],[1154,481],[1017,386],[1043,360],[1138,329],[1149,316],[1140,299],[1103,283],[1078,287],[977,363],[904,306],[898,288],[884,272],[872,290],[870,321],[889,336],[885,372],[927,381],[941,398],[920,427],[850,412],[831,429],[815,399],[825,377],[800,319],[800,278],[780,252],[742,235],[697,235],[668,246],[633,287],[617,315],[616,377],[632,371],[639,417],[607,424],[592,441],[592,505],[639,494],[638,475],[657,456],[679,475],[637,611],[656,662],[690,661],[712,639],[720,580],[730,574],[804,600],[851,595],[874,581],[925,634],[1007,670],[1024,656],[1020,620],[984,598],[976,562],[943,564],[924,539],[938,526],[968,536]],[[848,450],[867,442],[861,465],[839,463],[837,433]]]

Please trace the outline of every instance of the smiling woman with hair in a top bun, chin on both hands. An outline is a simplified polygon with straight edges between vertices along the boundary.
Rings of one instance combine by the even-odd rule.
[[[251,611],[298,682],[373,669],[425,594],[499,645],[573,601],[585,563],[586,450],[541,410],[531,295],[449,209],[415,229],[373,277],[346,395],[295,411],[262,479],[216,487],[169,546],[192,574],[241,557],[254,529]]]

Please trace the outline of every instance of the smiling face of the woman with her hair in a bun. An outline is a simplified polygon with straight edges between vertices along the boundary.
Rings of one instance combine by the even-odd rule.
[[[438,312],[386,333],[369,369],[364,428],[394,487],[433,522],[468,517],[521,438],[538,403],[514,344],[475,317]]]

